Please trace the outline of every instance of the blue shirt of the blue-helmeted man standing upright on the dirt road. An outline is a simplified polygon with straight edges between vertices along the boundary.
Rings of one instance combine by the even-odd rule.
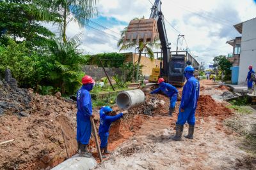
[[[186,78],[187,82],[182,90],[180,108],[183,110],[185,110],[185,108],[196,109],[200,92],[200,83],[196,80],[193,74],[189,74]]]

